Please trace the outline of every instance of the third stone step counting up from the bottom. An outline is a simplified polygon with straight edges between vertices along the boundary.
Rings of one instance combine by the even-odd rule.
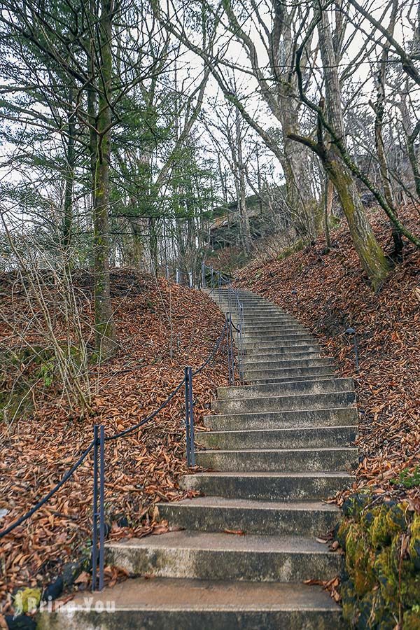
[[[158,503],[171,525],[194,531],[242,531],[264,535],[325,535],[339,522],[336,505],[321,501],[255,501],[197,496]]]

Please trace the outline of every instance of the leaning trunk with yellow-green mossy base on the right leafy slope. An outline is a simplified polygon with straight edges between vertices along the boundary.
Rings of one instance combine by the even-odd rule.
[[[325,10],[322,11],[321,22],[318,25],[318,36],[323,62],[327,118],[339,141],[345,146],[337,58],[332,43],[328,13]],[[342,162],[334,142],[330,144],[329,148],[324,148],[322,155],[323,166],[334,184],[335,190],[337,190],[360,262],[369,276],[374,290],[377,290],[388,274],[388,263],[384,252],[374,237],[372,226],[367,221],[356,183]]]

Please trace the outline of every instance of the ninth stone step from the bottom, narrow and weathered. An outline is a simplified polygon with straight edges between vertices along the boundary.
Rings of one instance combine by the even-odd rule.
[[[353,379],[318,379],[313,381],[290,381],[266,385],[241,385],[218,387],[218,400],[234,398],[260,398],[264,395],[300,395],[301,393],[330,393],[335,391],[352,391]]]

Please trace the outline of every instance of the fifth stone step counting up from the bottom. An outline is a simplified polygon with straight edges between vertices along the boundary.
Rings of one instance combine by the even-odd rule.
[[[357,449],[342,447],[196,451],[195,461],[202,468],[225,472],[333,472],[355,468]]]

